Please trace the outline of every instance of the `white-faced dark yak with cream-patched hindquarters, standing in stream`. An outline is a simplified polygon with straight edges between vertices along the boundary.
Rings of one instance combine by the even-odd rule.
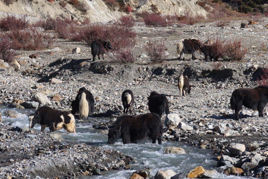
[[[27,114],[27,112],[25,112]],[[52,109],[48,106],[39,107],[34,114],[27,114],[29,128],[36,123],[41,125],[41,132],[49,127],[50,132],[64,128],[67,132],[75,133],[75,117],[68,112]]]

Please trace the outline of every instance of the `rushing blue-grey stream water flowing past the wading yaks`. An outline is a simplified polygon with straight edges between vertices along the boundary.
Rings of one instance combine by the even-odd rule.
[[[3,105],[0,106],[0,112],[3,114],[3,111],[8,110]],[[25,110],[16,109],[18,112],[18,118],[6,118],[2,116],[4,124],[12,123],[13,126],[24,127],[29,126],[28,117],[25,114]],[[27,110],[27,112],[34,112],[34,110]],[[94,118],[95,120],[96,118]],[[93,119],[92,119],[93,120]],[[105,121],[105,118],[100,120]],[[40,131],[40,125],[35,125],[33,130]],[[46,128],[47,132],[49,129]],[[135,160],[138,161],[137,164],[131,165],[131,170],[112,170],[112,171],[103,171],[102,176],[81,176],[80,178],[129,178],[133,171],[144,169],[145,166],[152,169],[153,174],[157,170],[168,170],[172,169],[176,173],[179,172],[188,172],[189,170],[202,166],[204,169],[212,170],[213,167],[217,165],[217,162],[213,160],[213,154],[208,149],[200,149],[197,147],[189,146],[182,142],[162,142],[162,145],[152,144],[151,140],[145,139],[139,142],[139,144],[123,144],[122,140],[118,140],[115,144],[106,144],[107,143],[107,134],[96,133],[98,130],[92,128],[90,123],[78,123],[76,124],[76,132],[66,133],[64,129],[57,131],[62,133],[62,137],[66,142],[69,143],[86,143],[93,147],[104,147],[107,149],[114,149],[120,152],[123,152],[126,155],[135,157]],[[164,148],[167,146],[181,147],[185,149],[186,154],[163,154]],[[142,165],[140,165],[142,164]],[[244,178],[244,177],[234,177],[226,176],[218,173],[215,178]]]

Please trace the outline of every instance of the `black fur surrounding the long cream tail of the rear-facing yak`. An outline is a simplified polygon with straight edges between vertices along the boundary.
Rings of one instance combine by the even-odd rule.
[[[82,93],[85,93],[86,95],[86,99],[89,105],[88,106],[89,114],[91,114],[94,110],[95,100],[94,100],[92,93],[88,91],[87,89],[85,89],[85,87],[81,87],[78,90],[75,100],[72,101],[72,111],[71,111],[72,114],[79,112],[79,102],[80,102]]]

